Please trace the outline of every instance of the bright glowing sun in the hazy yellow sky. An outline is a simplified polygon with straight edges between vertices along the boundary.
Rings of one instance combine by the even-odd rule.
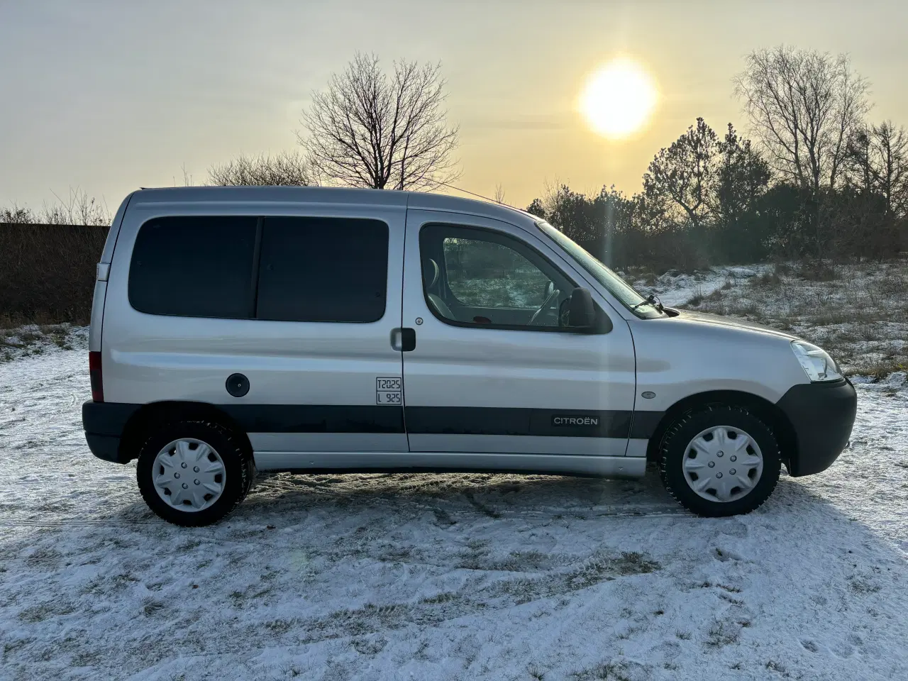
[[[622,139],[646,125],[657,99],[656,84],[640,64],[615,59],[589,76],[579,108],[594,131]]]

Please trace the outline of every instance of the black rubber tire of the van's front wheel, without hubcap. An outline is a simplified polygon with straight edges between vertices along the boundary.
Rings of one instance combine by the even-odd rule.
[[[763,455],[763,473],[754,488],[732,501],[701,497],[687,483],[682,468],[688,443],[703,430],[716,426],[744,430],[755,439]],[[669,426],[661,443],[659,472],[668,493],[687,510],[706,518],[736,516],[759,508],[773,493],[781,469],[773,430],[754,413],[736,405],[713,404],[687,411]]]

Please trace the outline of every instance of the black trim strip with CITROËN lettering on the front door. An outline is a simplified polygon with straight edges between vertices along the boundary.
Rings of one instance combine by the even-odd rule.
[[[498,407],[406,407],[407,431],[420,435],[528,435],[627,438],[631,411],[539,410]],[[562,419],[595,419],[589,425],[556,425]]]

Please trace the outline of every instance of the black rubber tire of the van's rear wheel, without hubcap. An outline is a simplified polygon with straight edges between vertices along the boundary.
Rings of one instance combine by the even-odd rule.
[[[221,457],[224,483],[221,497],[209,507],[198,511],[183,511],[166,503],[154,489],[154,459],[168,443],[177,439],[198,439],[211,446]],[[148,508],[169,523],[187,528],[202,527],[217,522],[240,505],[252,488],[255,465],[252,452],[242,441],[221,424],[210,420],[170,421],[155,428],[139,449],[135,469],[139,491]]]

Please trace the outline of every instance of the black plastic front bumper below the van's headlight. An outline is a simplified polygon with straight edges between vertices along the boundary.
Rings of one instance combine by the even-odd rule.
[[[849,380],[801,383],[776,403],[795,430],[797,454],[788,472],[813,475],[833,465],[848,445],[857,414],[857,393]]]

